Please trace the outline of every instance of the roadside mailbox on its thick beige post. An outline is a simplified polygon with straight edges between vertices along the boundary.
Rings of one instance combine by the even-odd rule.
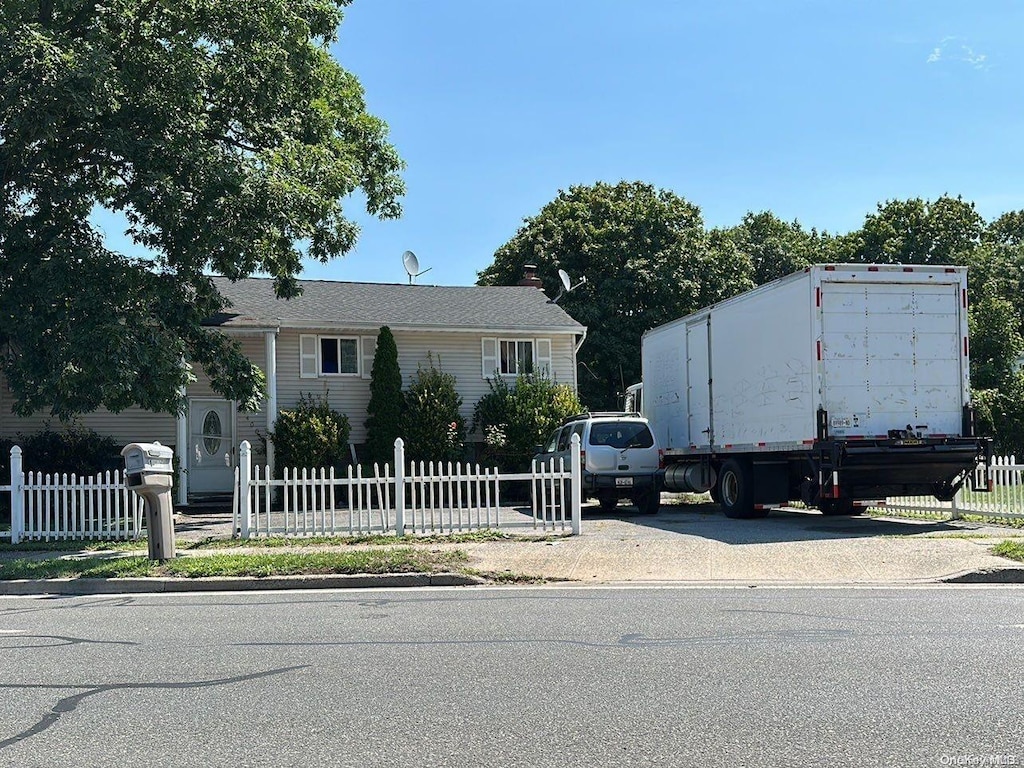
[[[125,484],[142,497],[150,559],[174,557],[173,452],[159,442],[132,442],[124,446]]]

